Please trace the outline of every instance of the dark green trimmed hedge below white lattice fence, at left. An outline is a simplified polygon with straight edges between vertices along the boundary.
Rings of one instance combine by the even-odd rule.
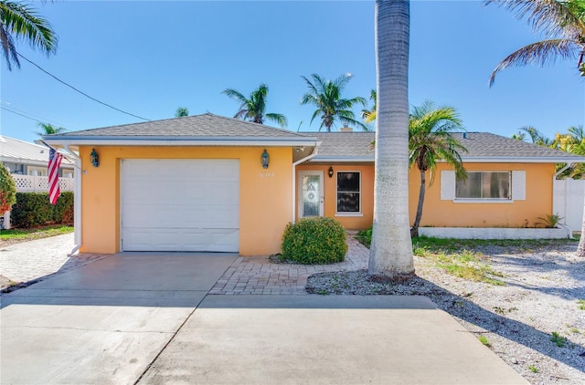
[[[48,192],[16,192],[10,219],[18,228],[73,224],[73,192],[61,192],[54,205],[48,201]]]

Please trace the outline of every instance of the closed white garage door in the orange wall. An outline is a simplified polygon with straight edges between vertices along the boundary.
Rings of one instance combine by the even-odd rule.
[[[122,160],[123,251],[239,251],[238,160]]]

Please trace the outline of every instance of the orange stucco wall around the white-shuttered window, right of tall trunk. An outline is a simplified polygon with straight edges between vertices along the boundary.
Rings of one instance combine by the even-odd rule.
[[[420,226],[436,227],[522,227],[542,222],[537,218],[552,213],[552,178],[555,173],[551,163],[467,163],[468,172],[473,171],[525,171],[526,200],[504,203],[455,203],[441,200],[441,171],[451,170],[439,164],[435,181],[425,195]],[[429,176],[427,174],[427,182]],[[410,222],[414,221],[419,200],[420,172],[410,170]]]

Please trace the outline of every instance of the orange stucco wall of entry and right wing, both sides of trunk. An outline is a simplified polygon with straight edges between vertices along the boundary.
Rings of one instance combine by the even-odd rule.
[[[298,172],[319,170],[324,172],[324,215],[337,219],[347,229],[369,228],[374,210],[374,166],[333,165],[334,171],[362,172],[362,214],[359,217],[335,216],[336,179],[327,176],[329,165],[299,165]],[[422,210],[421,226],[473,226],[473,227],[521,227],[528,221],[529,226],[541,222],[537,218],[552,213],[552,178],[554,165],[550,163],[467,163],[465,168],[472,171],[525,171],[526,200],[505,203],[454,203],[441,200],[441,171],[452,170],[445,164],[439,164],[435,180],[431,186],[430,174],[427,173],[427,191]],[[409,174],[410,224],[414,222],[419,201],[420,172],[416,167]],[[295,203],[298,219],[298,199]]]

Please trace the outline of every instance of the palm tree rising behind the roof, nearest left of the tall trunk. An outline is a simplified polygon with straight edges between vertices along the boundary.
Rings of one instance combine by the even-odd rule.
[[[333,81],[324,80],[317,74],[311,75],[313,81],[303,76],[301,78],[304,79],[309,88],[309,91],[301,98],[301,104],[312,104],[317,108],[314,110],[311,123],[319,116],[321,118],[319,130],[325,128],[328,132],[331,131],[331,128],[335,125],[335,120],[367,130],[367,126],[357,121],[354,111],[351,110],[356,104],[366,106],[366,99],[361,97],[341,98],[341,91],[343,91],[351,78],[350,74],[341,75]]]

